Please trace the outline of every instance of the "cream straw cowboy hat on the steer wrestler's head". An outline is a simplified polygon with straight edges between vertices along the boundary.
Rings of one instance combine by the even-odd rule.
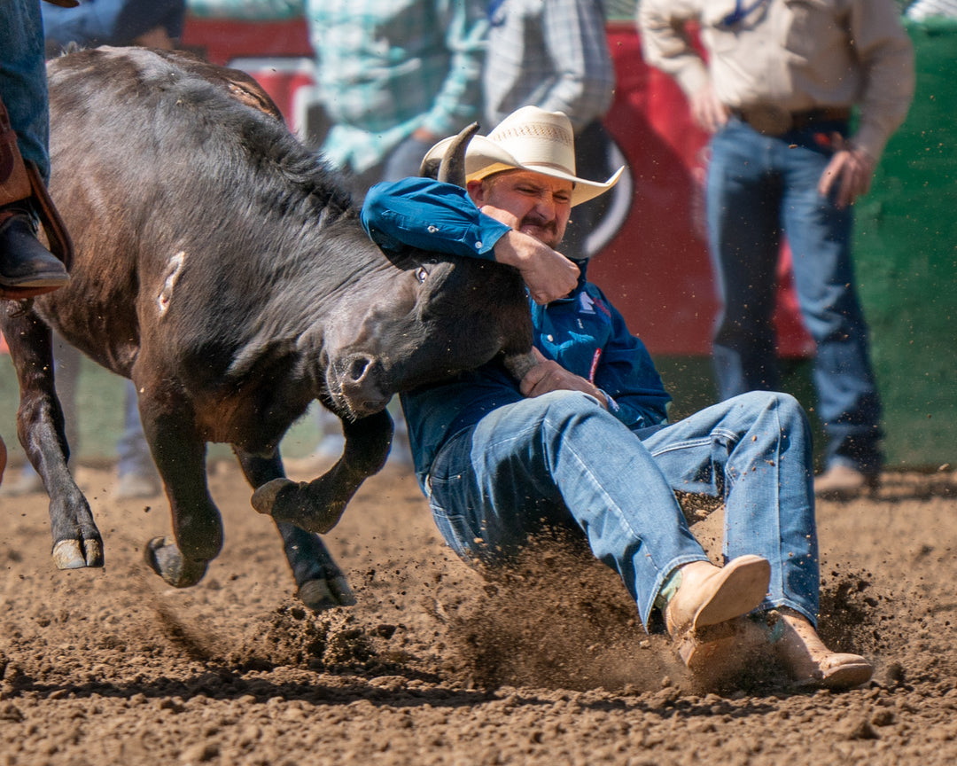
[[[423,165],[440,160],[455,138],[429,149]],[[512,112],[488,136],[475,136],[465,152],[466,181],[480,181],[501,170],[531,170],[572,183],[571,205],[580,205],[610,190],[621,176],[619,168],[604,183],[575,175],[574,134],[563,112],[523,106]]]

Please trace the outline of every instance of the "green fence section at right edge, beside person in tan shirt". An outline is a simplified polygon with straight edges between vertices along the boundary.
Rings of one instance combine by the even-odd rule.
[[[957,21],[908,23],[917,91],[872,191],[855,263],[891,466],[957,464]]]

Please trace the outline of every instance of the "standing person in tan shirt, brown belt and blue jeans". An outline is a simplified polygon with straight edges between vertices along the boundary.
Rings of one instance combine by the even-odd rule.
[[[893,0],[642,0],[638,26],[646,60],[678,81],[712,133],[706,210],[723,304],[719,394],[778,388],[771,315],[787,237],[828,437],[815,492],[875,486],[880,400],[854,286],[852,205],[913,97],[900,11]]]

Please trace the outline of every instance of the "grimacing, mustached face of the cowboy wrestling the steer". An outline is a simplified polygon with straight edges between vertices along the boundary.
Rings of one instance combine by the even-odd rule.
[[[557,248],[571,214],[571,182],[531,170],[505,170],[468,185],[482,213]]]

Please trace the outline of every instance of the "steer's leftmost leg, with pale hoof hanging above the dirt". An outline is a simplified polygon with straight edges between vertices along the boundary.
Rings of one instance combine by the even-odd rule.
[[[103,541],[90,505],[70,475],[70,447],[54,386],[53,334],[25,304],[0,302],[0,325],[20,385],[16,431],[50,496],[57,569],[103,565]]]

